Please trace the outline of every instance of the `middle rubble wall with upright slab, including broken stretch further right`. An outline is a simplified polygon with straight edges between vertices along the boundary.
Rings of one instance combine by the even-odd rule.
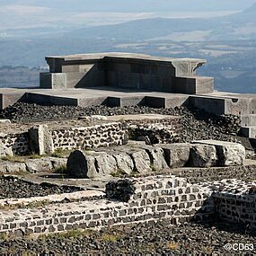
[[[159,134],[158,141],[163,143],[177,142],[181,134],[179,117],[140,119],[128,122],[112,121],[87,127],[51,128],[50,130],[47,125],[42,124],[33,128],[26,126],[17,130],[17,133],[14,129],[9,133],[7,130],[6,133],[0,134],[0,144],[13,154],[29,154],[31,152],[49,154],[56,149],[121,146],[127,144],[128,133],[132,128],[144,129],[146,134],[152,135],[150,137],[153,137],[153,140]],[[0,154],[2,153],[0,152]]]

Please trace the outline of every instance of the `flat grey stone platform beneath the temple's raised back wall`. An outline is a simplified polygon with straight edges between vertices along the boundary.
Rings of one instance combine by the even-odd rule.
[[[69,89],[0,89],[0,109],[15,102],[90,107],[107,105],[124,107],[142,105],[153,108],[173,108],[190,105],[216,115],[237,116],[256,113],[255,94],[213,92],[204,94],[163,93],[109,86]]]

